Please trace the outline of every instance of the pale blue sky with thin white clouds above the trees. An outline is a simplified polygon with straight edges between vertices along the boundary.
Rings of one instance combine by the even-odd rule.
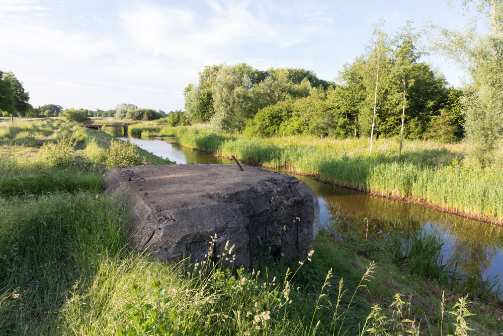
[[[0,0],[0,70],[23,82],[33,106],[167,112],[184,108],[183,90],[205,65],[303,68],[333,81],[380,18],[389,34],[407,20],[418,30],[425,20],[464,25],[441,0]],[[422,60],[461,84],[449,60]]]

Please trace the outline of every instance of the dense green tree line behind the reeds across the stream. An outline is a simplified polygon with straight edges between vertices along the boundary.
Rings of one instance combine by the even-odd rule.
[[[375,136],[394,137],[405,106],[405,138],[461,139],[463,92],[420,61],[410,24],[393,37],[382,30],[373,37],[366,54],[345,64],[334,82],[304,69],[205,66],[198,85],[185,89],[186,122],[257,136],[336,138],[368,137],[374,124]]]

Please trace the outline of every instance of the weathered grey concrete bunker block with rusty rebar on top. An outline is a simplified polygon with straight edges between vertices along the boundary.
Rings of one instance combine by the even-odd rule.
[[[234,263],[261,256],[304,258],[318,233],[314,192],[293,176],[243,165],[114,167],[105,193],[124,195],[133,212],[131,243],[162,259],[202,259],[214,234],[214,255],[226,241]],[[142,179],[140,179],[142,178]]]

